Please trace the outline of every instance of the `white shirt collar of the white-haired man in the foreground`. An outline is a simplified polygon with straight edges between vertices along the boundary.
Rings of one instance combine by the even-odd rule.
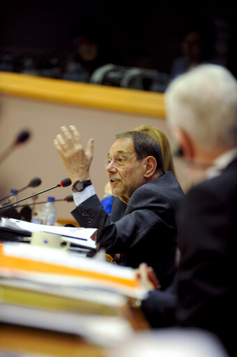
[[[220,175],[222,173],[222,170],[224,168],[227,168],[229,163],[234,161],[234,159],[237,158],[237,147],[234,149],[228,150],[227,152],[224,152],[224,154],[221,154],[220,156],[213,161],[213,166],[211,168],[208,168],[206,170],[206,177],[207,178],[213,178],[215,176]]]

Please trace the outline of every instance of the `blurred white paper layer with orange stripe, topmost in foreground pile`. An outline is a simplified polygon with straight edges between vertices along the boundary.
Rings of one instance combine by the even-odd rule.
[[[0,274],[11,277],[33,277],[49,284],[86,284],[141,298],[142,290],[135,270],[97,258],[84,258],[61,249],[36,247],[8,242],[0,245]]]

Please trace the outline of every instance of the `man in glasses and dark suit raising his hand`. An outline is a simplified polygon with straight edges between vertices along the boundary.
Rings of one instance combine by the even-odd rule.
[[[171,172],[164,172],[160,145],[141,131],[116,135],[105,163],[113,196],[128,204],[112,222],[90,181],[93,140],[84,152],[75,126],[63,126],[54,145],[68,170],[79,226],[98,228],[97,241],[109,254],[121,254],[124,265],[151,265],[165,289],[176,271],[176,211],[183,191]]]

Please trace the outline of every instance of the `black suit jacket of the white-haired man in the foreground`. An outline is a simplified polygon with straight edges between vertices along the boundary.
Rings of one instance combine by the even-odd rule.
[[[166,291],[153,291],[143,304],[153,327],[175,321],[179,326],[210,330],[231,356],[236,356],[236,222],[237,160],[220,176],[198,184],[186,195],[181,210],[177,290],[176,286],[169,289],[167,299]]]

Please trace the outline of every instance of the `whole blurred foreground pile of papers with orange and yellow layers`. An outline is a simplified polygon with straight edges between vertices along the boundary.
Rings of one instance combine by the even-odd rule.
[[[132,268],[15,242],[0,245],[0,288],[0,321],[102,344],[132,333],[130,305],[146,293]]]

